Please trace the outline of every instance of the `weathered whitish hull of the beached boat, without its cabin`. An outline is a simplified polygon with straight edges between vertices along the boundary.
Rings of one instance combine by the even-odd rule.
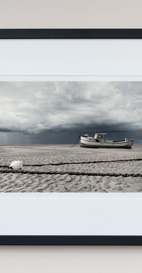
[[[84,148],[123,148],[131,149],[133,139],[124,141],[99,141],[96,142],[95,138],[80,136],[80,147]]]

